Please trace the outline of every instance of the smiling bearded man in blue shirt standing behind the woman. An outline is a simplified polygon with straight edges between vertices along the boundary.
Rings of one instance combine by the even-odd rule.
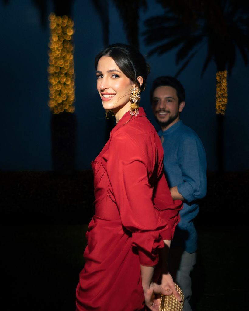
[[[184,311],[191,305],[191,271],[196,264],[197,233],[194,218],[198,199],[206,194],[206,156],[200,138],[180,120],[185,106],[185,90],[174,77],[153,81],[151,103],[161,130],[164,172],[174,200],[182,200],[181,220],[170,247],[169,271],[184,294]]]

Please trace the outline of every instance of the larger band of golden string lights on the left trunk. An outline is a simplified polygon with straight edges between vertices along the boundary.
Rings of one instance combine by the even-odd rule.
[[[48,52],[48,106],[53,114],[74,112],[75,73],[73,60],[72,35],[73,21],[66,15],[48,17],[51,36]]]

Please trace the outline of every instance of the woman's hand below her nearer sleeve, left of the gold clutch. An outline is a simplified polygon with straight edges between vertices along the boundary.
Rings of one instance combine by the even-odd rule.
[[[172,294],[172,290],[165,290],[161,285],[154,282],[150,284],[148,289],[144,289],[145,305],[151,311],[159,311],[160,294],[168,296]]]

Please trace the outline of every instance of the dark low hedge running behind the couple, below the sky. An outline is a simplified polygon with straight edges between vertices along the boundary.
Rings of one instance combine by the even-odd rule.
[[[196,223],[245,220],[249,171],[208,173],[207,195],[200,201]],[[88,223],[94,213],[91,170],[0,172],[3,222]]]

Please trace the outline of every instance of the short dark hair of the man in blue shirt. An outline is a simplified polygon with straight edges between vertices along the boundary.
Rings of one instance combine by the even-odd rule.
[[[180,104],[182,101],[185,100],[185,90],[180,81],[178,81],[176,78],[171,76],[161,76],[157,77],[152,82],[152,87],[150,90],[150,102],[152,103],[153,100],[153,92],[154,90],[159,86],[171,86],[176,90],[176,94],[178,97],[178,104]]]

